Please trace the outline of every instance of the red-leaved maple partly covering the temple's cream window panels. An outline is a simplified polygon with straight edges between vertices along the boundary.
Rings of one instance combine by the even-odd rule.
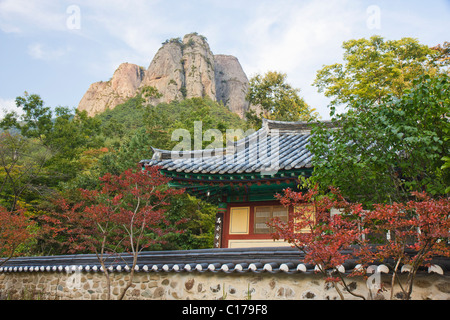
[[[344,299],[337,283],[354,293],[348,290],[340,269],[355,253],[352,245],[361,241],[367,230],[361,229],[361,204],[347,202],[336,189],[332,192],[334,197],[318,196],[317,188],[306,193],[286,189],[283,196],[277,197],[294,212],[287,222],[275,218],[270,224],[275,228],[274,239],[284,239],[299,249],[304,262],[314,264]],[[332,208],[339,214],[330,214]]]

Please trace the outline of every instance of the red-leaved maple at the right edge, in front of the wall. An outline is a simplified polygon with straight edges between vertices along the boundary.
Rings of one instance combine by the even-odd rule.
[[[402,298],[409,300],[419,268],[430,266],[433,257],[450,256],[449,198],[433,199],[424,192],[413,192],[412,195],[416,200],[375,204],[373,210],[364,213],[365,227],[382,238],[378,239],[381,243],[376,250],[362,247],[359,259],[366,265],[382,261],[391,269],[391,299],[397,282]],[[408,272],[404,284],[398,277],[402,267]]]

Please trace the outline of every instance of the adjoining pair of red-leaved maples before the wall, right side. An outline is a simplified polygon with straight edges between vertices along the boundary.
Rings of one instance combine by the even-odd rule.
[[[273,236],[299,249],[304,262],[315,265],[342,299],[338,283],[364,299],[346,286],[342,265],[350,259],[366,267],[374,262],[387,265],[393,275],[391,288],[398,283],[403,298],[409,299],[419,268],[427,266],[432,257],[450,256],[449,199],[432,199],[417,192],[413,196],[416,199],[405,204],[375,204],[372,210],[363,210],[334,188],[331,196],[319,196],[317,188],[306,193],[287,189],[278,198],[292,206],[294,213],[288,222],[271,222]],[[398,277],[401,267],[409,271],[406,283]],[[361,275],[361,270],[366,269],[355,270],[355,274]]]

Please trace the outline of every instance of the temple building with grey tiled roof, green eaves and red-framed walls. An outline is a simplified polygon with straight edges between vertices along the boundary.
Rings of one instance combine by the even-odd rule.
[[[287,246],[272,239],[267,222],[292,214],[275,195],[298,190],[298,177],[311,175],[310,135],[306,122],[264,119],[261,129],[226,148],[153,149],[152,159],[141,165],[160,166],[172,187],[217,204],[216,248]]]

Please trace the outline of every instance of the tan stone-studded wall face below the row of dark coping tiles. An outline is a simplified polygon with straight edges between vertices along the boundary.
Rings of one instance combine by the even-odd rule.
[[[130,275],[113,273],[112,299],[116,299]],[[404,276],[402,276],[404,278]],[[390,275],[382,275],[387,291],[375,294],[376,299],[390,298]],[[347,278],[349,289],[369,297],[367,282],[362,277]],[[103,273],[88,272],[18,272],[0,274],[0,299],[25,300],[102,300],[106,299]],[[345,299],[359,299],[343,290]],[[394,298],[401,299],[400,288]],[[450,276],[418,274],[414,300],[449,300]],[[128,289],[128,300],[335,300],[340,299],[332,284],[318,274],[285,273],[212,273],[170,272],[145,273],[134,276]]]

